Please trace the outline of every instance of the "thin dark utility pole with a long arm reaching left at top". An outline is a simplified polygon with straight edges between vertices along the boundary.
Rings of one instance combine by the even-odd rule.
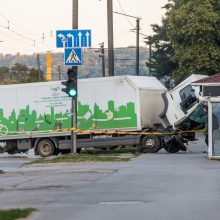
[[[124,13],[119,13],[119,12],[114,12],[116,14],[119,15],[124,15],[130,18],[135,18],[136,19],[136,75],[139,76],[139,66],[140,66],[140,56],[139,56],[139,35],[140,35],[140,18],[139,17],[135,17],[135,16],[131,16],[131,15],[127,15]]]

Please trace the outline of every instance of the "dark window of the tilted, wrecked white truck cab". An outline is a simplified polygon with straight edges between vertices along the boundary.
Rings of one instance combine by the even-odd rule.
[[[189,110],[197,102],[195,91],[191,85],[180,90],[179,94],[181,98],[180,106],[184,112]]]

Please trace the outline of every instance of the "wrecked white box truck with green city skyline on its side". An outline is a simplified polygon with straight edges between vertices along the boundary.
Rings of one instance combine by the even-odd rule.
[[[193,80],[200,78],[204,76]],[[172,132],[198,105],[193,97],[184,108],[183,90],[191,88],[191,81],[168,92],[155,77],[79,79],[77,129],[84,132],[77,134],[77,150],[124,145],[151,153],[163,147],[168,152],[185,150],[185,137],[192,139],[192,135]],[[36,154],[47,157],[70,151],[71,98],[62,88],[61,81],[0,86],[1,152],[14,154],[34,148]],[[96,131],[103,131],[102,135]]]

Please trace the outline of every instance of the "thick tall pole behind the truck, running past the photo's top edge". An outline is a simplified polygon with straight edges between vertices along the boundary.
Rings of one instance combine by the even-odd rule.
[[[114,44],[113,44],[113,6],[112,0],[107,0],[108,22],[108,74],[114,76]]]

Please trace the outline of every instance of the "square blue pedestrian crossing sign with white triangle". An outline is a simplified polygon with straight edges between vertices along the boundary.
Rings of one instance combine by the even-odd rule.
[[[81,48],[65,48],[64,65],[65,66],[82,65],[82,49]]]

